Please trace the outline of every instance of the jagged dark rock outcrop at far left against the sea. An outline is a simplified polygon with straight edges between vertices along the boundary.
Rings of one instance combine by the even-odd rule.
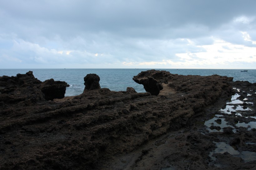
[[[17,76],[0,77],[0,103],[31,104],[55,98],[63,98],[67,87],[66,82],[53,79],[41,82],[33,72],[17,74]]]

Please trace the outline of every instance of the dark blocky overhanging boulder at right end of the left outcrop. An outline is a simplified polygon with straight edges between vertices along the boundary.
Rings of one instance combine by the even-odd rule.
[[[54,79],[45,80],[41,84],[41,91],[45,95],[45,100],[62,99],[66,93],[66,82],[54,81]]]

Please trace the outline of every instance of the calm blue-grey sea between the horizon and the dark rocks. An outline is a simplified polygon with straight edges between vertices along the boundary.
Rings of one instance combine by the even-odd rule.
[[[84,77],[89,73],[100,76],[101,88],[109,88],[112,91],[126,91],[126,87],[133,87],[137,92],[145,92],[143,85],[135,83],[132,78],[141,71],[149,69],[0,69],[0,76],[16,76],[33,71],[35,78],[45,81],[53,78],[67,82],[65,96],[79,95],[84,90]],[[166,70],[173,74],[209,76],[218,74],[234,77],[234,81],[242,80],[256,83],[256,69],[241,72],[239,69],[155,69]]]

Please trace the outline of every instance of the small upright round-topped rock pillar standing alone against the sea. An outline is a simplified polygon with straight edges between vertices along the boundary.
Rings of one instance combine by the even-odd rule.
[[[84,77],[84,92],[85,91],[89,91],[89,90],[97,90],[97,89],[101,89],[100,86],[100,77],[97,74],[87,74]]]

